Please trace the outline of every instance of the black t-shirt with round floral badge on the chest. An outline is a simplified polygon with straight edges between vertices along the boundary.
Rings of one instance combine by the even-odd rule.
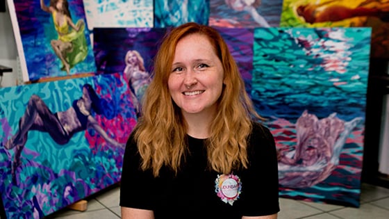
[[[188,136],[190,153],[178,174],[163,167],[153,177],[151,170],[140,170],[138,147],[131,135],[124,153],[120,206],[153,210],[156,219],[242,218],[279,211],[278,163],[269,129],[254,123],[249,168],[227,176],[207,168],[204,142]]]

